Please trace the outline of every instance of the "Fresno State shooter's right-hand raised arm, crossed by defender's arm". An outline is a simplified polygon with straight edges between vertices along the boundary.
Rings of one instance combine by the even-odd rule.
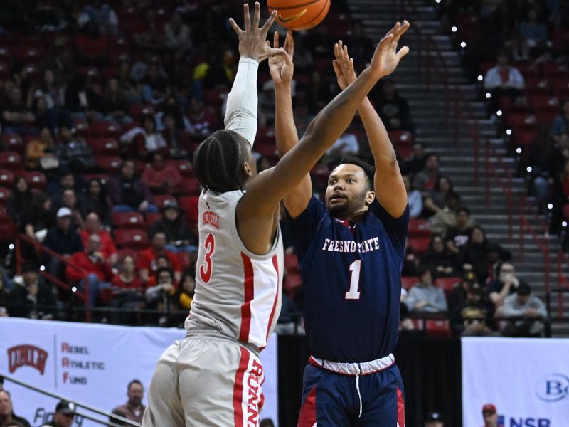
[[[400,28],[393,28],[393,39],[391,47],[393,51],[397,48],[397,41],[400,36],[407,31],[409,23],[403,22]],[[342,41],[334,45],[334,56],[336,59],[333,62],[334,72],[341,89],[350,85],[353,80],[356,80],[356,73],[353,69],[353,59],[349,57],[348,47]],[[386,63],[389,63],[388,58],[385,58]],[[391,72],[395,70],[395,66]],[[363,127],[366,128],[366,135],[368,137],[371,154],[376,164],[376,174],[373,179],[373,186],[376,192],[376,199],[383,209],[393,216],[399,218],[405,206],[407,206],[407,191],[405,191],[405,184],[403,184],[403,177],[399,170],[393,144],[389,140],[387,130],[381,121],[376,110],[371,105],[371,102],[366,97],[358,112],[363,122]]]

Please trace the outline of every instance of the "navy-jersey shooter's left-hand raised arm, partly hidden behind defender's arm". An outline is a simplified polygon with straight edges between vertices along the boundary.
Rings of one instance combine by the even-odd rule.
[[[277,31],[273,37],[272,47],[279,47],[279,33]],[[294,74],[292,62],[294,38],[291,30],[287,32],[283,48],[285,48],[286,55],[269,58],[271,77],[275,82],[275,139],[280,157],[298,144],[298,132],[296,125],[294,125],[294,114],[292,112],[291,84]],[[285,206],[289,215],[292,218],[299,216],[306,209],[311,196],[312,182],[310,175],[307,174],[300,184],[285,196]]]

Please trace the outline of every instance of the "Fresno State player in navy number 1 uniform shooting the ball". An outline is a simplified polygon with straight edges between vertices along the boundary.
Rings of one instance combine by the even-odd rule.
[[[381,77],[393,73],[408,53],[406,47],[396,53],[408,27],[407,21],[397,23],[380,42],[385,44]],[[290,34],[287,38],[290,45]],[[276,35],[273,47],[278,47]],[[341,41],[334,53],[338,83],[350,90],[356,80],[353,61]],[[277,147],[285,154],[297,143],[292,69],[282,79],[274,71],[286,67],[283,58],[269,63],[277,97]],[[392,352],[398,337],[407,195],[388,134],[367,97],[358,112],[377,169],[359,159],[341,161],[329,176],[326,204],[312,196],[308,174],[285,196],[313,354],[304,371],[300,427],[405,426],[403,383]]]

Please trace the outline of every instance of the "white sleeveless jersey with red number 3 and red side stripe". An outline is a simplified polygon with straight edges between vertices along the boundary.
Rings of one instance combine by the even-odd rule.
[[[242,191],[202,191],[198,202],[196,293],[186,330],[214,330],[262,349],[281,307],[282,237],[266,255],[245,248],[235,209]]]

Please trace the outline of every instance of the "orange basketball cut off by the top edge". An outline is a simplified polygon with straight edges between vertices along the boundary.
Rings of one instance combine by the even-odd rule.
[[[330,9],[330,0],[267,0],[269,11],[277,10],[275,20],[291,30],[307,30],[321,23]]]

